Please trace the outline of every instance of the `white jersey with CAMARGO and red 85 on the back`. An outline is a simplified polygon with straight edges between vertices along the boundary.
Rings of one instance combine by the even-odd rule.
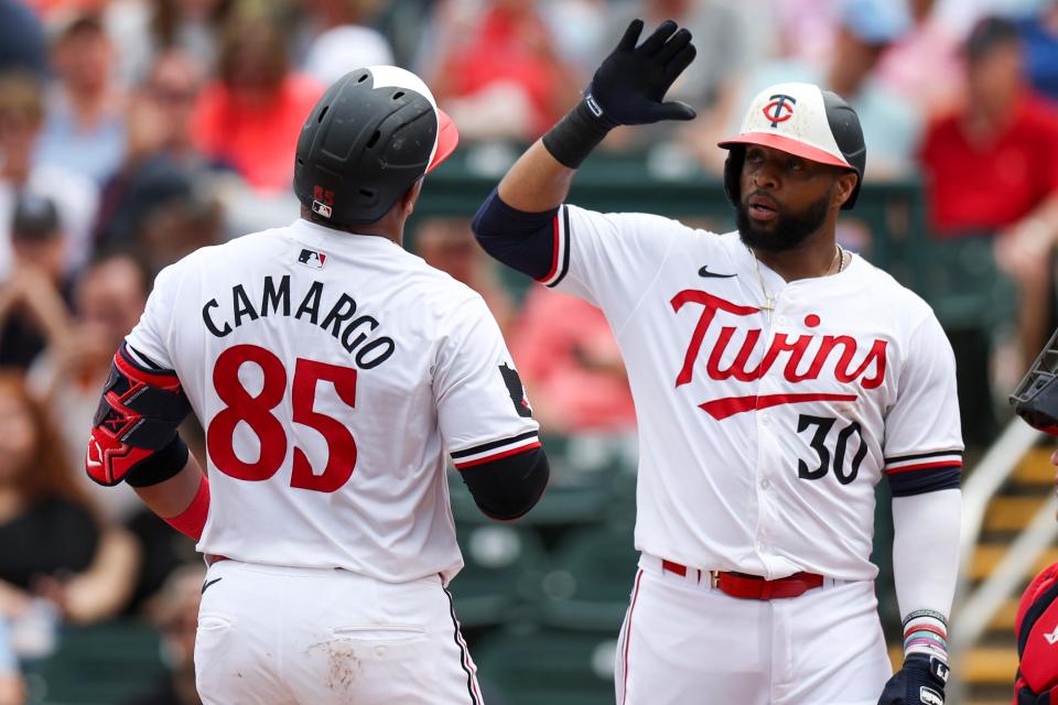
[[[381,237],[296,220],[198,250],[127,349],[205,429],[207,554],[451,578],[445,449],[465,468],[539,443],[482,297]]]

